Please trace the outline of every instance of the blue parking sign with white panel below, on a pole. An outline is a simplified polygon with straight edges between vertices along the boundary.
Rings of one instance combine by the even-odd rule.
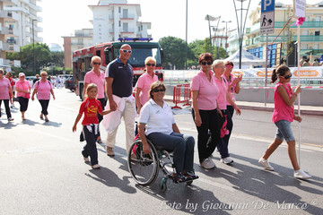
[[[275,0],[261,1],[260,33],[274,33]]]

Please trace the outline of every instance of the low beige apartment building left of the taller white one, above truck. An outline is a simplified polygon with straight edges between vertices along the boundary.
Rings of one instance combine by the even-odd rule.
[[[65,67],[72,68],[73,51],[93,46],[93,30],[74,30],[74,35],[63,36],[65,50]]]

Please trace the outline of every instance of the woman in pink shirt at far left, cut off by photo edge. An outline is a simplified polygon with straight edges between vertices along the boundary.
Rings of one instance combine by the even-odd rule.
[[[0,107],[1,107],[2,101],[4,100],[5,114],[9,122],[13,121],[13,118],[10,112],[10,107],[9,107],[10,97],[13,97],[13,90],[12,90],[10,81],[7,78],[4,78],[4,70],[0,69]],[[1,108],[0,108],[0,117],[1,117]]]

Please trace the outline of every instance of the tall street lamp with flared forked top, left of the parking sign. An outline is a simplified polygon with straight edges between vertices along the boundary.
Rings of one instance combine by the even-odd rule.
[[[240,9],[237,9],[235,2],[241,2],[241,7]],[[239,38],[239,68],[241,69],[241,56],[242,56],[242,41],[243,41],[243,35],[244,35],[244,30],[246,27],[246,21],[247,21],[247,15],[248,15],[248,11],[249,11],[249,6],[250,6],[250,2],[251,0],[249,0],[249,4],[248,4],[248,8],[244,9],[242,6],[242,3],[248,1],[248,0],[233,0],[233,4],[234,4],[234,10],[236,13],[236,17],[237,17],[237,25],[238,25],[238,38]],[[243,10],[246,10],[246,16],[243,22],[243,26],[242,26],[242,12]],[[238,19],[238,11],[240,11],[240,24],[239,24],[239,19]]]

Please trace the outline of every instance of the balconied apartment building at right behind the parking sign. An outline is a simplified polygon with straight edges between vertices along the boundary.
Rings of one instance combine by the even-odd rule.
[[[260,7],[250,13],[249,20],[251,26],[246,29],[243,47],[254,56],[265,59],[266,35],[260,34],[260,14]],[[292,21],[286,24],[291,16],[292,4],[275,3],[275,30],[273,34],[268,35],[268,44],[270,45],[268,55],[269,66],[279,64],[282,58],[286,59],[287,42],[292,43],[297,40],[297,27],[292,25],[296,20],[292,18]],[[309,57],[311,55],[314,58],[320,57],[323,54],[322,17],[323,2],[306,5],[306,21],[301,25],[301,56]],[[285,30],[277,38],[277,35],[285,25]],[[292,61],[295,60],[293,59]]]

